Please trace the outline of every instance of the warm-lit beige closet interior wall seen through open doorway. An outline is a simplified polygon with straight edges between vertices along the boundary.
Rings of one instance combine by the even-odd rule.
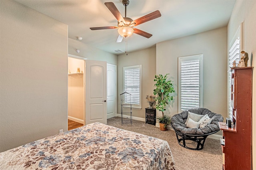
[[[84,123],[84,74],[72,74],[77,72],[84,73],[84,60],[68,57],[68,116],[69,119]]]

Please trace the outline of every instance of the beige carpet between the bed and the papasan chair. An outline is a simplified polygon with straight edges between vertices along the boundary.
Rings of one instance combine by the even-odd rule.
[[[173,130],[160,131],[159,127],[136,120],[132,121],[132,125],[121,125],[121,117],[108,119],[107,124],[167,141],[172,150],[176,170],[222,170],[220,140],[208,137],[204,143],[204,149],[190,150],[178,144]]]

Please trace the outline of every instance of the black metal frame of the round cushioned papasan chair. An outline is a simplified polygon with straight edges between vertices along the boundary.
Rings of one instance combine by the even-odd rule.
[[[172,126],[172,123],[171,123],[171,126]],[[172,129],[174,129],[174,127],[172,127]],[[207,133],[207,134],[202,134],[202,135],[191,135],[191,134],[181,133],[180,131],[177,131],[176,129],[174,129],[174,131],[176,133],[176,137],[177,137],[179,145],[184,147],[184,148],[191,149],[191,150],[201,150],[201,149],[203,149],[206,137],[208,137],[208,135],[212,135],[212,134],[218,132],[218,131],[215,131],[215,132],[212,132],[212,133]],[[180,138],[179,138],[179,136],[180,136]],[[186,145],[186,140],[196,142],[197,143],[196,148],[188,147]],[[181,141],[182,141],[182,144],[180,143]]]

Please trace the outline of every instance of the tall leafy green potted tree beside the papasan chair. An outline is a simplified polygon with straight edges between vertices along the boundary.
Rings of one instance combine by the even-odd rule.
[[[167,125],[170,124],[170,117],[164,115],[164,111],[166,110],[166,106],[169,105],[169,102],[173,100],[173,96],[170,94],[174,92],[173,84],[171,80],[167,80],[167,75],[163,76],[162,74],[155,75],[154,85],[156,89],[154,89],[154,95],[156,95],[156,109],[162,111],[162,117],[158,117],[159,125],[164,126],[165,130],[167,129]],[[164,124],[164,125],[161,125]],[[162,128],[160,128],[162,130]]]

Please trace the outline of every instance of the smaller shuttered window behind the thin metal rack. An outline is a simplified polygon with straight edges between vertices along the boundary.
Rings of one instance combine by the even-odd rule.
[[[141,109],[141,65],[124,67],[124,104]],[[130,101],[131,100],[131,101]]]

